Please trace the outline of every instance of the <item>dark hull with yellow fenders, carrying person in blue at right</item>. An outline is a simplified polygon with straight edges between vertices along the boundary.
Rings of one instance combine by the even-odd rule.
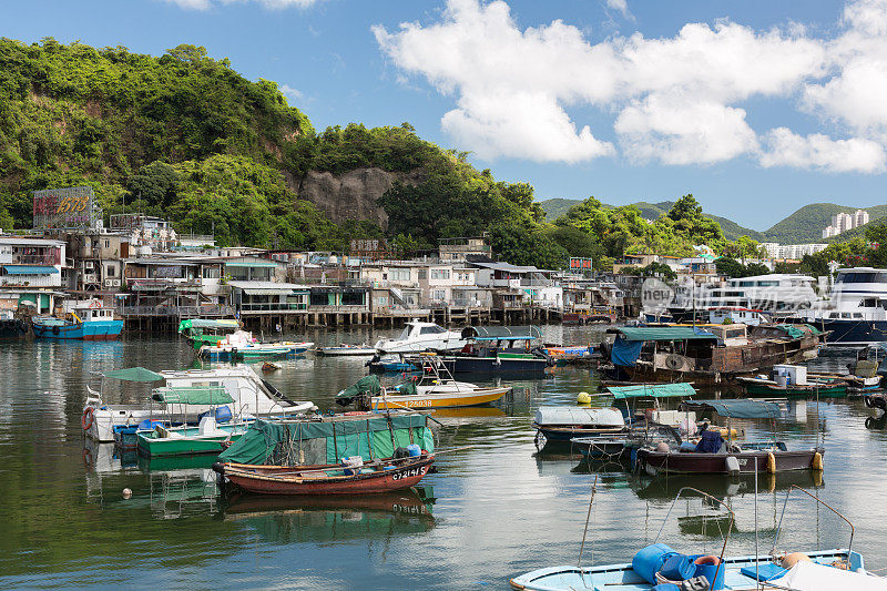
[[[730,473],[726,459],[728,456],[735,457],[740,465],[740,473],[767,472],[767,459],[769,454],[776,459],[776,471],[791,470],[812,470],[813,460],[816,454],[825,455],[824,448],[808,449],[804,451],[766,451],[750,450],[737,454],[696,454],[679,451],[653,451],[650,449],[638,450],[638,461],[648,471],[656,473],[686,473],[686,475],[713,475]],[[756,467],[756,468],[755,468]]]

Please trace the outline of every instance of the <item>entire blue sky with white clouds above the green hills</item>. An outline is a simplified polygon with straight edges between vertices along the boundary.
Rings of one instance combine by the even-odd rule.
[[[887,203],[887,0],[8,1],[0,35],[205,45],[319,130],[409,121],[540,200],[693,193],[755,230]]]

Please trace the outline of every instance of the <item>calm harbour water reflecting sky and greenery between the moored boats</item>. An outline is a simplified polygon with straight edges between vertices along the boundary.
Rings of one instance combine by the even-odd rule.
[[[593,328],[546,332],[547,340],[568,345],[600,340]],[[386,335],[288,336],[325,345]],[[816,364],[837,370],[846,361]],[[335,393],[365,375],[363,363],[308,355],[283,363],[267,379],[326,411]],[[683,486],[735,511],[728,553],[751,553],[756,540],[766,552],[786,491],[799,485],[817,489],[854,523],[853,547],[869,569],[887,568],[887,427],[883,420],[866,426],[874,411],[859,400],[791,408],[776,429],[793,448],[823,437],[824,475],[762,475],[756,503],[753,479],[654,479],[582,465],[565,452],[538,455],[530,427],[536,409],[573,405],[579,391],[598,388],[598,377],[579,368],[514,383],[513,398],[493,408],[440,417],[439,449],[472,447],[441,455],[438,473],[416,492],[347,502],[228,500],[205,470],[212,460],[149,463],[84,441],[80,416],[92,373],[131,366],[196,367],[193,350],[175,336],[0,343],[0,588],[502,589],[528,570],[577,562],[595,477],[583,564],[631,561],[655,538]],[[144,389],[122,388],[105,401],[143,396]],[[755,421],[738,427],[746,439],[771,432]],[[123,488],[132,489],[131,499],[122,499]],[[712,501],[682,499],[663,540],[692,553],[715,551],[722,514]],[[848,540],[834,514],[792,495],[777,548],[846,547]]]

